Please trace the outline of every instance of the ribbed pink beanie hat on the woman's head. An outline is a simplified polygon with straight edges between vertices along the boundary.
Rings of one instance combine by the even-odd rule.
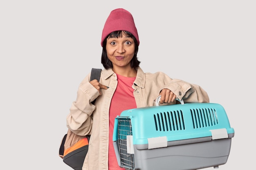
[[[103,46],[103,41],[110,33],[121,30],[128,31],[134,35],[139,45],[139,35],[132,14],[125,9],[119,8],[111,11],[106,20],[101,36],[101,46]]]

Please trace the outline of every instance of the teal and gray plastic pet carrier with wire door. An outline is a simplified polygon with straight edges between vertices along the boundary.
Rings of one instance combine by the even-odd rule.
[[[232,137],[220,104],[190,103],[124,110],[113,144],[127,170],[197,170],[225,164]]]

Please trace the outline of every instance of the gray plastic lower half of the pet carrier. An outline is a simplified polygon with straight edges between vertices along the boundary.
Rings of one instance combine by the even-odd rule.
[[[231,137],[234,137],[234,134],[229,134],[227,139],[211,140],[211,137],[186,139],[168,142],[167,148],[155,149],[148,149],[148,144],[134,145],[134,154],[127,154],[126,148],[123,148],[124,152],[120,153],[123,155],[122,161],[119,154],[116,156],[119,166],[127,170],[135,170],[135,167],[136,170],[218,168],[227,162]],[[117,141],[114,142],[115,150],[119,150],[119,145]],[[127,157],[127,160],[124,157]]]

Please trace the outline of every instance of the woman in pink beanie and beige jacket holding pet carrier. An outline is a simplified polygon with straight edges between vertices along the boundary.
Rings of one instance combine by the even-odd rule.
[[[168,75],[144,73],[137,60],[139,36],[130,12],[111,11],[103,28],[100,82],[90,74],[79,85],[76,101],[67,116],[67,127],[77,135],[91,135],[83,170],[124,170],[120,168],[112,144],[113,123],[123,110],[161,104],[209,102],[198,85]],[[91,102],[96,99],[96,102]]]

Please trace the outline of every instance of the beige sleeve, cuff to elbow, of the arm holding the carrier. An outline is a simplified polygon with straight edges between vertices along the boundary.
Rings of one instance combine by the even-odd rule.
[[[180,79],[171,79],[164,88],[170,89],[178,99],[183,99],[184,103],[209,103],[207,92],[196,84]]]

